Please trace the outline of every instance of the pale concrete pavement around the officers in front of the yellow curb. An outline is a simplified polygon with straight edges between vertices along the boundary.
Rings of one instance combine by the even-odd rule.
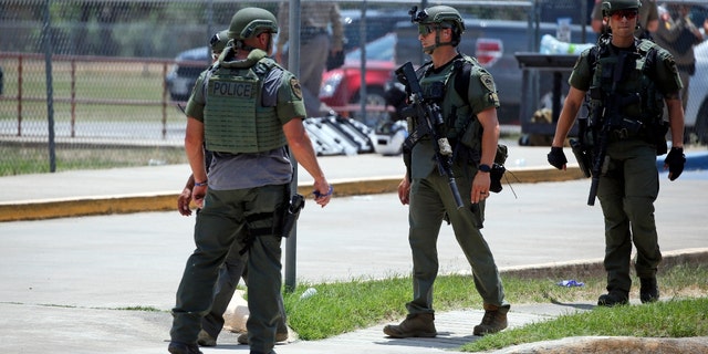
[[[7,180],[0,178],[4,197],[25,189],[63,188],[39,185],[40,177],[33,179],[32,188],[7,188],[17,183]],[[175,185],[164,181],[162,187],[178,189],[183,180],[176,177]],[[81,180],[75,184],[101,190]],[[585,205],[587,187],[589,180],[504,185],[489,201],[483,230],[499,267],[602,257],[601,209]],[[706,173],[687,171],[675,183],[662,174],[660,188],[656,220],[663,251],[708,247],[707,227],[701,222],[708,197]],[[298,228],[298,280],[407,273],[406,215],[394,194],[337,198],[324,209],[309,204]],[[174,305],[184,262],[194,249],[192,226],[194,218],[176,211],[0,223],[0,348],[8,353],[165,353],[170,324],[166,311]],[[438,248],[441,271],[469,271],[447,226]],[[129,306],[162,311],[116,311]],[[592,306],[514,306],[510,321],[519,326],[576,308]],[[281,354],[444,353],[473,340],[469,333],[480,317],[479,310],[440,314],[438,330],[444,334],[435,342],[393,341],[375,326],[277,350]],[[246,346],[233,345],[235,334],[225,333],[220,343],[205,353],[247,352]]]

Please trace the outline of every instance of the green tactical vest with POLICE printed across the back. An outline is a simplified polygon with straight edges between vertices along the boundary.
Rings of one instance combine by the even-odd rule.
[[[208,150],[260,153],[287,144],[275,102],[263,105],[263,80],[280,66],[263,58],[250,67],[217,65],[205,83],[205,140]],[[282,69],[280,69],[282,70]]]

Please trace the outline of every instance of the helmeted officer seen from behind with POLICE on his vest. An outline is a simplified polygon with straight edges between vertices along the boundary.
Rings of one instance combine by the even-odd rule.
[[[314,179],[314,201],[324,207],[332,197],[302,122],[300,83],[269,56],[275,33],[278,20],[271,12],[236,12],[230,45],[197,80],[187,103],[185,150],[195,180],[191,199],[200,210],[197,248],[187,260],[171,311],[167,350],[173,354],[201,353],[197,341],[202,317],[229,256],[247,262],[250,353],[274,353],[282,316],[281,237],[290,208],[291,154]],[[208,174],[205,147],[212,154]]]

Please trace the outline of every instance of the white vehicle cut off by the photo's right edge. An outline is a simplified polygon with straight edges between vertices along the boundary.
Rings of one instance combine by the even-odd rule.
[[[694,48],[696,73],[688,86],[685,125],[686,138],[696,136],[698,143],[708,144],[708,40]]]

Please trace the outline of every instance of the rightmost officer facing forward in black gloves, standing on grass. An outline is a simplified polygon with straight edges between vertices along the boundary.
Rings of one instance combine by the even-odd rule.
[[[656,272],[662,252],[654,201],[659,191],[656,156],[666,152],[664,104],[673,139],[664,160],[670,180],[680,176],[686,162],[681,81],[668,51],[634,35],[641,6],[638,0],[603,1],[610,34],[579,56],[548,154],[549,164],[566,168],[563,142],[587,94],[593,179],[598,180],[597,198],[605,223],[607,293],[597,299],[600,306],[629,303],[633,243],[639,300],[646,303],[659,299]],[[603,149],[605,158],[597,156]],[[597,171],[595,166],[603,167]],[[594,201],[595,196],[591,194],[591,198]]]

